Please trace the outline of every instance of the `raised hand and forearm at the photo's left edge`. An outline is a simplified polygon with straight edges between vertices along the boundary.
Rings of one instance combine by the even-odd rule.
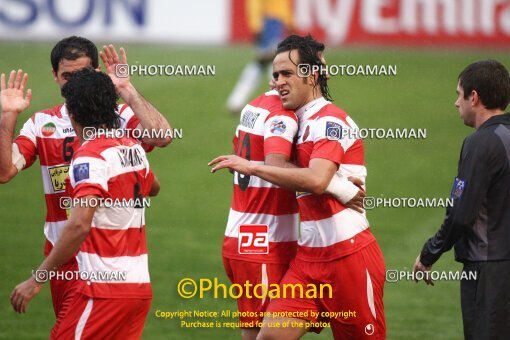
[[[28,74],[20,69],[11,71],[6,83],[5,74],[0,76],[0,183],[9,182],[17,175],[18,169],[12,160],[14,129],[19,114],[26,110],[32,99],[32,91],[25,94]]]

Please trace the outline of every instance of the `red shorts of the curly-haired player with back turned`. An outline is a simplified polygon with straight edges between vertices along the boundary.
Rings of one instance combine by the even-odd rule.
[[[77,294],[50,339],[140,339],[151,299],[97,299]]]

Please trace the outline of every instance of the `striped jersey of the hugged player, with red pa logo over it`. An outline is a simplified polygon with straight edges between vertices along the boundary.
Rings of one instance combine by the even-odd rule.
[[[246,105],[234,137],[234,153],[264,164],[272,153],[292,156],[298,124],[276,91]],[[294,192],[259,177],[234,173],[234,192],[223,256],[260,263],[286,263],[296,253],[298,206]],[[260,236],[262,235],[262,236]]]

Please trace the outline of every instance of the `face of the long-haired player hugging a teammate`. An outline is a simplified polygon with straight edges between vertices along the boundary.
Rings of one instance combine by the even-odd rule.
[[[290,58],[288,51],[279,53],[273,61],[276,90],[280,94],[283,107],[288,110],[298,110],[313,100],[312,76],[299,77],[296,64],[299,64],[297,50],[290,52]]]

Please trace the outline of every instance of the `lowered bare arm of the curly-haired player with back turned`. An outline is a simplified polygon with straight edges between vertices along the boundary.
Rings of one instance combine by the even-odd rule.
[[[83,197],[82,199],[88,200],[91,198],[93,196]],[[57,243],[48,257],[37,268],[37,271],[48,273],[55,271],[76,254],[90,232],[92,218],[96,210],[95,206],[96,204],[87,204],[73,208]],[[42,286],[43,282],[36,281],[34,276],[17,285],[11,294],[11,305],[14,310],[18,313],[25,313],[28,303],[39,293]]]

